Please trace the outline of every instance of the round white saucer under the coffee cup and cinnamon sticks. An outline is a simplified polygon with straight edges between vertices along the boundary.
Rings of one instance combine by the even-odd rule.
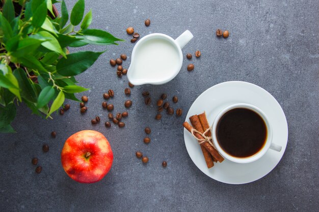
[[[191,106],[186,122],[194,114],[206,112],[211,125],[217,114],[225,107],[236,103],[248,103],[259,107],[269,118],[273,127],[273,142],[281,145],[281,152],[269,149],[259,160],[239,164],[225,159],[208,169],[196,139],[184,129],[187,151],[195,165],[207,176],[227,184],[246,184],[255,181],[273,170],[282,158],[288,140],[286,116],[277,100],[263,88],[248,82],[229,81],[205,90]]]

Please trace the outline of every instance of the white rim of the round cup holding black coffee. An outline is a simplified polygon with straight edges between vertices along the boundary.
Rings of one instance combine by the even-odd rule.
[[[216,136],[216,127],[218,124],[219,119],[228,111],[235,109],[235,108],[246,108],[246,109],[250,109],[254,112],[256,112],[258,115],[260,115],[260,117],[264,120],[265,125],[267,127],[267,139],[265,141],[265,144],[263,145],[263,147],[259,150],[259,152],[257,152],[255,155],[252,155],[250,157],[247,158],[237,158],[231,155],[228,155],[223,149],[222,147],[219,145],[218,141],[217,141],[217,136]],[[272,143],[272,138],[273,138],[273,129],[271,127],[271,124],[269,122],[268,116],[258,107],[251,105],[251,104],[247,104],[247,103],[237,103],[237,104],[233,104],[230,105],[228,107],[225,107],[223,110],[221,110],[219,112],[219,114],[215,117],[214,119],[214,123],[212,125],[212,129],[211,129],[211,135],[212,135],[212,141],[215,145],[215,147],[217,148],[218,152],[226,159],[235,162],[235,163],[251,163],[254,162],[256,160],[258,160],[259,158],[261,158],[265,153],[267,153],[268,149],[271,146]]]

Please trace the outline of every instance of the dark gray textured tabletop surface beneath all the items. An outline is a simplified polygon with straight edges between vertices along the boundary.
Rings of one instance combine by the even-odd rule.
[[[103,1],[87,0],[93,10],[94,28],[105,29],[127,40],[108,51],[85,74],[77,77],[91,88],[88,112],[79,113],[78,103],[53,120],[30,115],[19,106],[13,123],[16,134],[0,135],[0,208],[3,211],[318,211],[318,1]],[[67,1],[70,9],[75,0]],[[146,27],[144,20],[150,18]],[[135,86],[124,95],[127,78],[119,79],[111,58],[130,55],[134,44],[125,33],[133,26],[141,36],[165,33],[176,38],[190,29],[194,39],[183,54],[193,57],[195,70],[182,69],[171,82]],[[230,37],[219,39],[217,28]],[[103,50],[87,46],[82,49]],[[130,57],[123,66],[128,68]],[[282,106],[288,122],[286,152],[278,166],[265,177],[246,185],[227,185],[204,175],[191,161],[183,141],[181,123],[193,101],[220,82],[242,80],[268,90]],[[107,111],[101,108],[102,94],[115,90],[110,101],[115,112],[123,111],[124,100],[132,107],[125,128],[103,125]],[[152,106],[141,95],[149,90]],[[163,92],[179,97],[174,108],[183,116],[163,114],[154,120],[155,100]],[[78,95],[81,97],[82,95]],[[101,123],[90,120],[100,115]],[[150,126],[152,141],[143,143],[144,127]],[[102,132],[109,139],[114,163],[109,174],[96,184],[79,184],[64,172],[60,153],[71,134],[84,129]],[[50,137],[57,131],[56,139]],[[42,152],[48,143],[48,153]],[[149,156],[147,165],[135,157],[136,150]],[[35,173],[31,159],[43,167]],[[167,168],[162,161],[167,160]]]

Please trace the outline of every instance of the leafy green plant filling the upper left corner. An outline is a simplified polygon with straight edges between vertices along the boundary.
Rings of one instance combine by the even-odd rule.
[[[47,118],[65,98],[79,101],[74,93],[87,90],[76,85],[74,76],[92,66],[103,52],[67,54],[67,46],[117,45],[122,40],[88,28],[92,11],[84,16],[84,0],[76,2],[70,16],[63,0],[58,17],[52,16],[56,0],[0,3],[0,132],[14,132],[10,123],[19,102]]]

